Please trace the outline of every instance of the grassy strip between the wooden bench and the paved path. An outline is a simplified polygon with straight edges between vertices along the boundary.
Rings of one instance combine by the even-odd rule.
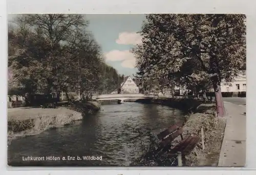
[[[197,135],[201,141],[186,157],[186,166],[218,166],[226,119],[216,117],[215,105],[201,104],[184,126],[184,136]],[[204,134],[204,150],[201,129]]]

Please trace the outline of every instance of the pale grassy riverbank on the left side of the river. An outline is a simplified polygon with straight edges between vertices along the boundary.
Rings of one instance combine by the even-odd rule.
[[[48,129],[61,128],[81,120],[86,114],[100,110],[97,102],[86,104],[63,104],[57,109],[42,109],[33,107],[8,109],[8,144],[19,137],[36,135]]]

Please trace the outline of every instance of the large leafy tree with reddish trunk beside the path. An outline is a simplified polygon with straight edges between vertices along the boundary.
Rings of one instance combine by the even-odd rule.
[[[246,68],[245,15],[150,14],[146,19],[139,32],[142,44],[132,49],[139,76],[213,87],[223,116],[221,81],[231,81]]]

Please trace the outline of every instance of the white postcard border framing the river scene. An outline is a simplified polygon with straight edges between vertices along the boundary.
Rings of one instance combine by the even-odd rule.
[[[255,174],[256,169],[256,2],[255,1],[239,1],[239,0],[226,0],[226,1],[207,1],[207,0],[188,0],[188,1],[171,1],[171,0],[44,0],[44,1],[33,1],[33,0],[9,0],[0,1],[0,70],[1,70],[1,94],[0,94],[0,109],[2,113],[1,117],[1,174]],[[247,15],[247,140],[246,140],[246,167],[244,168],[218,168],[222,170],[214,170],[214,167],[208,168],[189,168],[193,170],[177,170],[177,168],[150,168],[151,170],[142,170],[149,168],[121,168],[120,170],[115,167],[100,168],[109,170],[96,170],[99,168],[11,168],[8,169],[19,169],[23,171],[6,171],[7,168],[7,13],[243,13]],[[22,145],[21,145],[22,146]],[[26,169],[26,170],[25,170]],[[36,172],[28,171],[28,169],[37,169]],[[44,171],[38,171],[38,169],[46,169]],[[60,170],[62,169],[62,170]],[[72,171],[68,170],[72,169]],[[80,169],[80,170],[78,170]],[[91,169],[91,170],[90,170]],[[95,169],[95,170],[92,170]],[[134,169],[129,170],[128,169]],[[136,170],[135,170],[136,169]],[[141,170],[139,170],[141,169]],[[162,170],[160,170],[162,169]],[[163,170],[165,169],[165,170]],[[166,170],[168,169],[168,170]],[[170,171],[169,169],[174,169]],[[185,170],[186,169],[186,170]],[[208,169],[200,171],[200,169]],[[211,170],[209,170],[211,169]],[[226,171],[224,171],[226,169]],[[247,169],[247,171],[239,171],[239,169]],[[250,169],[250,170],[249,170]]]

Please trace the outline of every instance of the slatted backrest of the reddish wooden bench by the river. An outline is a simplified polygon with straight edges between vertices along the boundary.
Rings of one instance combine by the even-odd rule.
[[[185,122],[179,122],[170,126],[168,129],[164,130],[163,132],[157,135],[158,139],[161,140],[161,146],[166,146],[170,142],[172,142],[176,137],[182,134],[183,126]]]

